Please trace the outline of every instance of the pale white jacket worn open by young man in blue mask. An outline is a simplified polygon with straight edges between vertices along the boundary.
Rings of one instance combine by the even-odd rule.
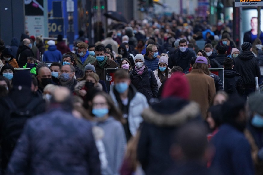
[[[113,89],[114,88],[111,88],[110,96],[114,101],[115,105],[117,106],[117,108],[119,108],[119,104],[117,102]],[[143,110],[148,107],[149,104],[147,102],[146,97],[142,93],[136,92],[135,96],[130,101],[129,114],[128,114],[129,129],[130,129],[130,133],[133,136],[135,136],[137,129],[140,126],[140,123],[143,121],[142,119]]]

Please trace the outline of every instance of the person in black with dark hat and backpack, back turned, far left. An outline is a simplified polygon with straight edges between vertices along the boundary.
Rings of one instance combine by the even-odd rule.
[[[45,101],[35,97],[29,72],[14,75],[8,97],[0,100],[1,168],[5,170],[26,121],[45,111]]]

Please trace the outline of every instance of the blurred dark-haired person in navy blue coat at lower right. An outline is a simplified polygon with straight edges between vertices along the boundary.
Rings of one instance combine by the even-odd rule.
[[[254,174],[250,145],[243,132],[248,118],[244,99],[232,96],[222,106],[222,125],[211,139],[216,152],[211,167],[219,168],[224,175]]]

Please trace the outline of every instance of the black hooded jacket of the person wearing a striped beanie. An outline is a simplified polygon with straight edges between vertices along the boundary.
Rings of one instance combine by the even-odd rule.
[[[234,65],[234,69],[244,79],[244,87],[255,87],[255,77],[260,78],[258,58],[251,51],[245,50],[234,59]]]

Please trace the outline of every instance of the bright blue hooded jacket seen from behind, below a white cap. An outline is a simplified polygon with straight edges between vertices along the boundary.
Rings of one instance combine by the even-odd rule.
[[[51,45],[48,50],[43,54],[44,62],[61,62],[62,54],[59,50],[57,50],[57,46]]]

